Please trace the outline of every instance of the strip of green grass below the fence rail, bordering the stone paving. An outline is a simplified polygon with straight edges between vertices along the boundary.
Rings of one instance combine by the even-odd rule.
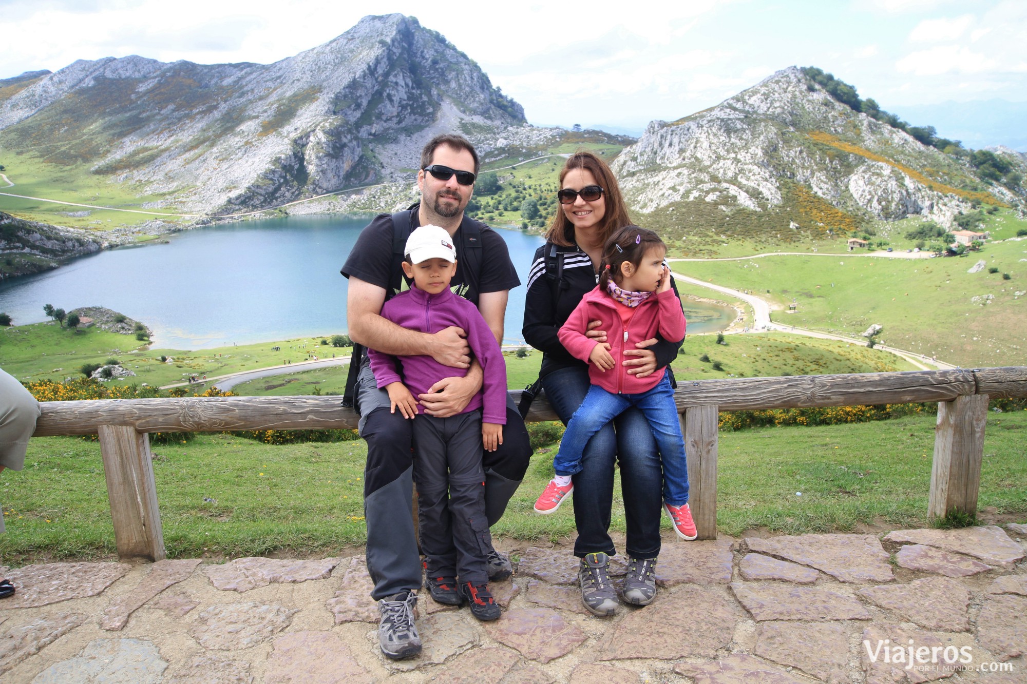
[[[758,527],[801,533],[848,531],[861,524],[924,526],[934,424],[934,416],[920,415],[872,424],[723,432],[719,530],[737,535]],[[1027,515],[1023,430],[1027,411],[989,414],[981,508]],[[533,456],[493,534],[573,536],[571,506],[550,516],[531,511],[551,477],[554,449],[550,445]],[[172,558],[328,556],[365,540],[363,441],[268,446],[203,434],[186,444],[155,445],[153,452]],[[623,532],[619,484],[615,487],[611,529]],[[115,553],[97,442],[33,440],[25,470],[0,473],[0,491],[7,525],[7,534],[0,535],[5,564]],[[670,530],[665,520],[662,525]]]

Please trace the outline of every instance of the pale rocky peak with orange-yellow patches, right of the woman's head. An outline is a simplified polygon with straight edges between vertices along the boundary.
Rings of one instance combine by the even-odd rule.
[[[651,122],[614,170],[643,213],[676,211],[725,232],[733,220],[782,239],[912,215],[952,227],[972,205],[1023,203],[964,160],[853,111],[795,67],[711,109]]]

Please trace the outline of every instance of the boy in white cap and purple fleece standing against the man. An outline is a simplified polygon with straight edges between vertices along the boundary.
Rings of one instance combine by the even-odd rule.
[[[450,291],[456,251],[449,232],[439,226],[414,230],[407,238],[403,270],[414,287],[385,302],[381,315],[420,333],[461,329],[484,374],[482,391],[462,413],[438,418],[420,413],[415,396],[465,370],[443,366],[431,356],[368,352],[378,388],[388,391],[391,412],[398,409],[405,418],[414,419],[414,482],[428,593],[439,603],[454,606],[466,599],[474,617],[494,620],[500,611],[489,593],[485,560],[492,544],[485,518],[482,444],[495,451],[503,442],[506,365],[478,308]]]

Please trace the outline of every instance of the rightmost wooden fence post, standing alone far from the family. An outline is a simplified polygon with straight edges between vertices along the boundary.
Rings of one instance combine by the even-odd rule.
[[[928,518],[945,518],[956,509],[977,514],[987,418],[987,394],[957,396],[938,404]]]

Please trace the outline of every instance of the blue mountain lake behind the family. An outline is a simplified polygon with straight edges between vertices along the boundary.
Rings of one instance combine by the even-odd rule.
[[[153,331],[154,348],[224,345],[346,331],[339,274],[367,219],[289,217],[184,231],[167,243],[108,250],[59,269],[0,282],[0,311],[45,320],[43,305],[105,306]],[[506,343],[518,344],[537,235],[499,230],[521,276],[510,292]],[[734,310],[685,302],[688,332],[723,330]]]

